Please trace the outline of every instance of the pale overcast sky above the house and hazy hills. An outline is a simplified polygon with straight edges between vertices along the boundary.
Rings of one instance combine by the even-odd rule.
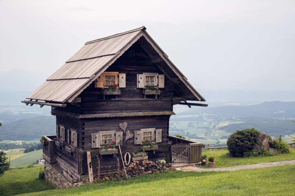
[[[142,25],[196,89],[294,90],[295,1],[282,0],[0,0],[1,88],[35,89],[86,41]]]

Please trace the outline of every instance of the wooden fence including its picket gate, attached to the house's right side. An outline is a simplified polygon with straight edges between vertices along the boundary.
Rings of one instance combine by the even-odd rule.
[[[182,139],[169,135],[171,143],[171,161],[173,164],[190,164],[201,161],[202,143],[194,142],[189,139]]]

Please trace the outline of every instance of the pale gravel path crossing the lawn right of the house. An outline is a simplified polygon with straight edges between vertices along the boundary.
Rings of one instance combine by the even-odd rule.
[[[223,168],[212,168],[212,169],[202,169],[202,168],[196,167],[193,170],[181,170],[180,168],[176,168],[176,170],[194,171],[194,172],[212,172],[212,171],[219,172],[219,171],[234,171],[234,170],[261,168],[261,167],[272,167],[272,166],[279,166],[279,165],[295,165],[295,160],[278,161],[278,162],[271,162],[271,163],[258,163],[254,165],[240,165],[235,167],[223,167]]]

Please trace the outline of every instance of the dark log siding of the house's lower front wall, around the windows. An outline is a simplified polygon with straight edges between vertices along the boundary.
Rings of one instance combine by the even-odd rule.
[[[156,128],[162,129],[162,143],[157,143],[159,146],[158,150],[147,151],[148,160],[156,161],[158,159],[167,158],[167,122],[170,116],[152,116],[152,117],[132,117],[132,118],[114,118],[114,119],[85,119],[85,143],[84,150],[82,153],[82,174],[88,173],[88,166],[86,160],[86,151],[91,151],[91,159],[93,165],[94,173],[97,172],[97,158],[98,149],[91,148],[91,134],[98,133],[99,131],[108,131],[116,130],[116,132],[122,131],[119,127],[120,123],[127,122],[128,126],[126,131],[129,130],[134,134],[134,131],[146,128]],[[121,146],[122,154],[129,152],[132,155],[132,152],[141,152],[141,145],[134,144],[134,137],[128,139],[125,142],[126,134],[123,133],[123,145]],[[118,147],[116,147],[118,149]],[[119,156],[119,152],[118,152]],[[121,160],[120,160],[121,161]],[[103,155],[101,159],[101,166],[106,165],[115,165],[116,159],[113,158],[113,155]],[[122,167],[122,164],[121,164]]]

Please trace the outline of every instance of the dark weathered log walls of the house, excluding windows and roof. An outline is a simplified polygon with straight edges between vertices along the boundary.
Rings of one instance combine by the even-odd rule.
[[[121,88],[121,95],[118,95],[118,99],[103,100],[101,88],[95,88],[93,82],[78,96],[81,97],[80,106],[68,104],[65,108],[55,108],[55,110],[77,114],[173,111],[174,90],[167,77],[165,77],[165,88],[160,89],[161,94],[158,95],[158,99],[143,99],[143,89],[137,88],[137,74],[144,72],[163,73],[154,63],[150,62],[151,58],[137,43],[133,44],[130,49],[135,50],[135,57],[128,57],[127,51],[106,70],[126,74],[126,88]],[[76,147],[75,156],[57,149],[56,155],[59,157],[57,162],[65,167],[71,167],[75,174],[87,174],[86,151],[91,151],[93,172],[97,172],[96,154],[98,154],[98,149],[91,148],[91,134],[105,130],[122,131],[119,128],[119,123],[125,121],[128,123],[126,130],[130,130],[131,133],[146,128],[162,129],[162,142],[157,143],[159,149],[155,151],[155,154],[153,151],[148,151],[148,156],[152,161],[166,159],[169,118],[170,115],[76,119],[56,114],[57,124],[64,125],[65,129],[72,128],[78,132],[78,147]],[[134,144],[134,138],[125,142],[125,136],[123,134],[122,153],[140,152],[140,145]],[[112,155],[103,155],[101,166],[106,166],[106,164],[115,165],[116,159]]]

